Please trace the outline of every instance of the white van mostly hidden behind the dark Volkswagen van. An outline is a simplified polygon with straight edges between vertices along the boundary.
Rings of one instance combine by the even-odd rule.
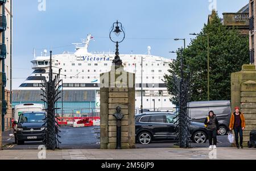
[[[44,110],[44,105],[41,104],[34,104],[34,103],[27,103],[22,105],[16,105],[14,108],[14,121],[18,122],[19,115],[23,112],[42,112]],[[15,143],[16,143],[16,128],[17,126],[14,124],[14,136],[15,136]]]

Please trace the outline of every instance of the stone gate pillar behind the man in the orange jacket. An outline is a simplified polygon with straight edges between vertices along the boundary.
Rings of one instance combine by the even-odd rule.
[[[243,146],[247,147],[250,132],[256,130],[256,70],[255,65],[243,65],[240,72],[231,74],[232,111],[238,106],[245,114]]]

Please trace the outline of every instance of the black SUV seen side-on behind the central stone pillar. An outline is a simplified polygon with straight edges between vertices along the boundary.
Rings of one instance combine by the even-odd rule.
[[[136,140],[141,144],[151,141],[175,141],[176,115],[169,112],[146,112],[135,116]],[[189,131],[195,143],[205,143],[208,139],[204,124],[191,122]]]

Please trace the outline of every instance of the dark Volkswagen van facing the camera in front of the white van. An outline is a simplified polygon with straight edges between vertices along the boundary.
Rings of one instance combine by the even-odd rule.
[[[46,113],[44,112],[24,112],[20,114],[17,126],[17,143],[24,144],[24,141],[43,141],[45,134],[44,125]]]

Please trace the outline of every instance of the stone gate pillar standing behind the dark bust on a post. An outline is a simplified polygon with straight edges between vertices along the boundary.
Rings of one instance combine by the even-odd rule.
[[[117,106],[121,107],[121,148],[135,148],[135,74],[112,66],[101,74],[101,149],[115,149],[117,145]]]

